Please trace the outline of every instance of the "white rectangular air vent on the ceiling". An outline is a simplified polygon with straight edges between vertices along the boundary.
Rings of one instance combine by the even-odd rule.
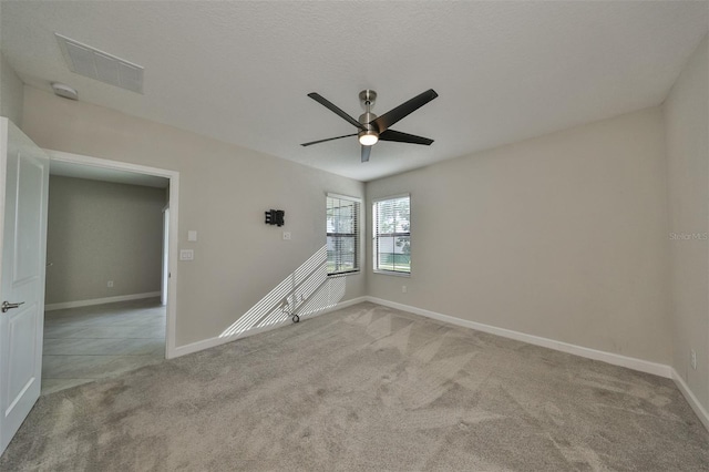
[[[54,33],[72,72],[132,92],[143,93],[143,68]]]

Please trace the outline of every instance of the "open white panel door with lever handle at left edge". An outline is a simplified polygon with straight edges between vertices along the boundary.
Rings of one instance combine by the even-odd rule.
[[[0,453],[40,396],[49,157],[0,117]]]

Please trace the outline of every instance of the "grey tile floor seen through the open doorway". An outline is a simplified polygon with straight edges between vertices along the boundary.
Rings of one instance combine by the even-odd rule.
[[[165,359],[165,307],[158,298],[44,314],[42,394]]]

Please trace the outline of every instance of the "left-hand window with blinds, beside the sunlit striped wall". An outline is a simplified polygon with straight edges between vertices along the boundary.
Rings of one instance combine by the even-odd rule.
[[[359,198],[328,194],[328,275],[359,270]]]

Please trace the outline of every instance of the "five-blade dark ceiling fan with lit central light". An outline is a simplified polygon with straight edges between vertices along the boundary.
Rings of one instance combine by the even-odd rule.
[[[388,111],[379,117],[371,112],[372,106],[374,106],[374,101],[377,100],[377,92],[374,92],[373,90],[362,90],[359,93],[359,100],[362,104],[362,107],[364,109],[364,113],[360,115],[359,121],[345,113],[342,110],[337,107],[335,104],[332,104],[318,93],[308,93],[308,96],[320,103],[326,109],[329,109],[331,112],[339,115],[345,121],[357,126],[359,131],[357,133],[346,134],[343,136],[311,141],[309,143],[301,144],[301,146],[325,143],[326,141],[340,140],[342,137],[358,136],[359,143],[362,145],[362,162],[368,162],[369,153],[371,152],[372,146],[377,144],[379,140],[395,141],[398,143],[423,144],[427,146],[430,146],[431,143],[433,143],[433,140],[429,140],[428,137],[415,136],[413,134],[402,133],[400,131],[389,129],[389,126],[397,123],[399,120],[403,119],[410,113],[413,113],[421,106],[429,103],[431,100],[439,96],[439,94],[435,93],[433,89],[429,89],[425,92],[420,93],[408,102],[402,103],[401,105]]]

